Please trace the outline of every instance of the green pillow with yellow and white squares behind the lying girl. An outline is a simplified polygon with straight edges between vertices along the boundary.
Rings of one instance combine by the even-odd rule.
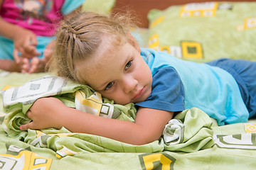
[[[205,2],[153,9],[149,47],[194,62],[256,60],[255,8],[256,2]]]

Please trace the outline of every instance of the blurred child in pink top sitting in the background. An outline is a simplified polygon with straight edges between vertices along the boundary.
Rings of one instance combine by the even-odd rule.
[[[0,0],[0,69],[44,72],[55,28],[85,0]]]

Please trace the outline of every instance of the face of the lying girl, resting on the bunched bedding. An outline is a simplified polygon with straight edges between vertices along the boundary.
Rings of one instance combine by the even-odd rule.
[[[104,42],[106,40],[100,45],[102,48]],[[90,67],[83,72],[87,84],[117,104],[145,101],[151,94],[152,75],[137,42],[126,42],[102,51],[92,56],[95,60],[85,60]]]

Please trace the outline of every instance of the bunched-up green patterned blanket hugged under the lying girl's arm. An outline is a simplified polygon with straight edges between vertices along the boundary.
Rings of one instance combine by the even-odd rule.
[[[80,111],[130,122],[134,122],[137,113],[133,103],[125,106],[114,104],[89,86],[55,76],[33,79],[22,86],[2,91],[0,95],[3,100],[1,110],[5,114],[1,127],[7,135],[35,147],[52,149],[58,158],[88,152],[196,152],[213,145],[210,118],[198,108],[178,113],[166,125],[163,137],[159,140],[146,145],[129,145],[107,137],[73,133],[64,127],[60,130],[49,128],[21,131],[19,126],[31,121],[26,111],[42,97],[53,96],[66,106]]]

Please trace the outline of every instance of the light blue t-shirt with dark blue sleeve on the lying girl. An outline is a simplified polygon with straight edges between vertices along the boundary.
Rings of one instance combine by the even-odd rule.
[[[151,49],[142,49],[141,55],[151,69],[153,83],[149,98],[136,106],[174,112],[196,107],[218,125],[247,122],[249,113],[238,84],[224,69]]]

